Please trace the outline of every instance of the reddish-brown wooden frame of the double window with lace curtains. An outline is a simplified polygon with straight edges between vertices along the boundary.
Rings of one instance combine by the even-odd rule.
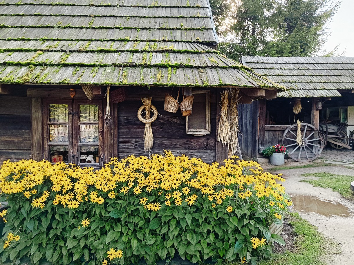
[[[50,104],[66,104],[68,105],[68,143],[49,143],[49,125],[55,124],[55,122],[49,122],[49,105]],[[98,105],[98,163],[80,163],[79,152],[80,146],[89,146],[90,144],[80,144],[80,118],[79,118],[79,106],[80,105]],[[96,124],[95,124],[96,125]],[[99,167],[103,163],[103,107],[101,100],[50,100],[43,101],[43,151],[44,159],[50,161],[49,146],[68,146],[69,161],[68,163],[74,163],[80,166],[93,166]],[[92,144],[93,145],[93,144]]]

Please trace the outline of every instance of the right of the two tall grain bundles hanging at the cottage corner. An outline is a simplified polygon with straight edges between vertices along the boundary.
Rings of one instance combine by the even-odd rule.
[[[238,145],[239,132],[239,113],[237,104],[239,103],[240,89],[230,89],[230,107],[229,107],[229,126],[230,126],[230,141],[229,141],[229,158],[235,155]]]

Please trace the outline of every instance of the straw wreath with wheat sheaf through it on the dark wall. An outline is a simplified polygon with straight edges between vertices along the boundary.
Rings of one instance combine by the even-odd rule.
[[[141,106],[138,110],[138,119],[145,123],[145,130],[144,130],[144,152],[149,152],[153,148],[154,144],[154,136],[153,131],[151,128],[151,123],[154,122],[157,118],[157,109],[154,105],[151,104],[151,97],[141,98],[143,102],[143,106]],[[142,116],[143,110],[145,109],[145,115]],[[151,113],[153,112],[154,115],[151,117]]]

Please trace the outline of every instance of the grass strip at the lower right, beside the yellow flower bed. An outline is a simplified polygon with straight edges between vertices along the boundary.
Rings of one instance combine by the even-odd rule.
[[[327,254],[339,253],[336,243],[322,235],[316,226],[302,219],[298,213],[290,213],[289,223],[298,235],[296,252],[273,254],[271,259],[261,260],[258,265],[325,265]]]

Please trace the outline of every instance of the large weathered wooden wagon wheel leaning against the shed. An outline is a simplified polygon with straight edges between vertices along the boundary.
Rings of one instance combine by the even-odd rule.
[[[282,138],[288,156],[298,162],[309,162],[318,158],[323,150],[323,136],[318,129],[308,123],[301,125],[303,144],[296,143],[297,124],[289,126]]]

